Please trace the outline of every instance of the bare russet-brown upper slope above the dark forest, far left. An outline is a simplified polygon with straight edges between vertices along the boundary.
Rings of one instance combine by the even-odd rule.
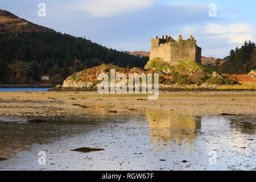
[[[9,11],[0,10],[0,32],[55,32],[54,30],[39,26],[21,19]]]

